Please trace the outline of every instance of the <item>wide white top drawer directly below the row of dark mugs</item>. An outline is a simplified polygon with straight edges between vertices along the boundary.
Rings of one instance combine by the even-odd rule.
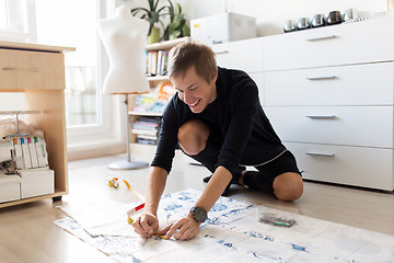
[[[268,36],[264,45],[265,70],[393,60],[394,18]]]

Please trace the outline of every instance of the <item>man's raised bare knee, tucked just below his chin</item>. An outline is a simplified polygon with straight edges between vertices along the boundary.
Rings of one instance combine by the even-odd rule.
[[[208,126],[201,121],[192,119],[179,127],[177,139],[187,155],[196,156],[205,149],[208,136]]]

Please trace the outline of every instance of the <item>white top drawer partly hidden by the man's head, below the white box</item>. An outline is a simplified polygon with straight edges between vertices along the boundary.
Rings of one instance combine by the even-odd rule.
[[[263,71],[263,38],[229,42],[212,46],[219,67],[246,72]]]

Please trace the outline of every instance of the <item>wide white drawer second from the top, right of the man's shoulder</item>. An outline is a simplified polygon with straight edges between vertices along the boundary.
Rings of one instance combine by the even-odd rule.
[[[393,105],[394,64],[270,71],[266,105]]]

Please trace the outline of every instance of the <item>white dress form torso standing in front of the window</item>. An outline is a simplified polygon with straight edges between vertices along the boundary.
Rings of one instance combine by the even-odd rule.
[[[131,94],[149,92],[143,72],[143,54],[149,22],[131,15],[121,5],[113,18],[99,22],[99,34],[109,58],[104,93]]]

